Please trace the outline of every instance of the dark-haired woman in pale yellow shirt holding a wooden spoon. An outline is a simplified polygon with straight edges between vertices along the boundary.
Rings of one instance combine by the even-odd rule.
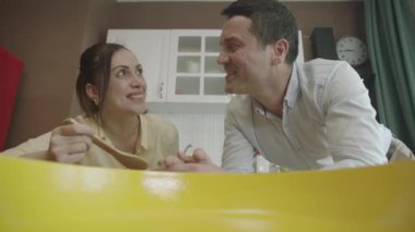
[[[124,47],[96,44],[86,49],[81,56],[76,95],[84,115],[4,154],[121,169],[145,168],[140,164],[144,160],[150,170],[163,170],[164,157],[177,155],[177,130],[145,114],[143,68]],[[134,160],[138,166],[130,163]]]

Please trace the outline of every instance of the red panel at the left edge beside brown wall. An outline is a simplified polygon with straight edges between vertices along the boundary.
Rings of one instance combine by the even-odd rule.
[[[23,62],[0,48],[0,150],[4,149]]]

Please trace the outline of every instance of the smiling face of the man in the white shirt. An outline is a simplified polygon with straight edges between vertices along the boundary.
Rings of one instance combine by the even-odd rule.
[[[270,73],[271,50],[259,44],[250,26],[250,19],[234,16],[222,29],[217,62],[226,71],[227,93],[250,94]]]

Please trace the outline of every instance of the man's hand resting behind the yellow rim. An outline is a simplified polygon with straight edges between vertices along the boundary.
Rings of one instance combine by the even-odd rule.
[[[164,166],[167,171],[175,172],[225,172],[225,170],[213,164],[209,156],[201,148],[193,150],[192,156],[186,156],[183,152],[179,152],[177,157],[168,156],[164,159]]]

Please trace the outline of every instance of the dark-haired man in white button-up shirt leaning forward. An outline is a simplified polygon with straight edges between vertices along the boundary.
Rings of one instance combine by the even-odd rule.
[[[274,0],[238,0],[226,21],[217,62],[226,71],[222,169],[202,149],[165,160],[171,171],[253,172],[254,154],[288,170],[387,163],[391,132],[376,121],[368,91],[343,61],[294,62],[297,26]]]

